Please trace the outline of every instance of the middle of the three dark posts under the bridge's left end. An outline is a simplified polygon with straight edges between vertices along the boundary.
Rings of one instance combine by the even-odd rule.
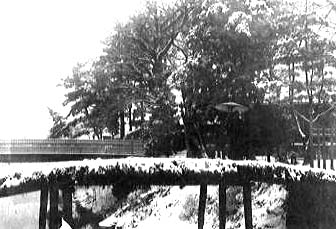
[[[59,227],[58,195],[57,184],[53,182],[50,185],[49,229],[58,229]]]

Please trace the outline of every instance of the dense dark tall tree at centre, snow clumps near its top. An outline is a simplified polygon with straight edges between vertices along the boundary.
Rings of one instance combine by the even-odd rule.
[[[240,122],[236,115],[221,115],[219,122],[219,114],[211,111],[211,106],[228,101],[244,105],[263,101],[263,90],[255,80],[266,68],[268,43],[262,31],[267,31],[268,25],[262,23],[261,6],[241,1],[206,1],[194,7],[194,12],[192,27],[184,39],[187,61],[176,75],[183,98],[187,145],[190,151],[198,151],[194,154],[205,154],[208,132],[202,128],[226,123],[227,131],[229,123]],[[254,25],[255,21],[259,24]]]

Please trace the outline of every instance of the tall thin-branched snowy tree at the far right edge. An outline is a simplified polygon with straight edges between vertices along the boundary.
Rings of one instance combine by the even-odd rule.
[[[278,69],[281,69],[279,78],[285,83],[282,85],[287,85],[288,97],[285,99],[293,111],[303,141],[307,141],[305,162],[312,163],[313,125],[334,109],[333,106],[322,104],[334,102],[333,89],[336,81],[330,69],[335,66],[335,44],[323,37],[330,28],[326,18],[318,14],[316,3],[300,3],[289,4],[277,19],[280,23],[274,59]],[[297,103],[306,103],[307,109],[299,111]]]

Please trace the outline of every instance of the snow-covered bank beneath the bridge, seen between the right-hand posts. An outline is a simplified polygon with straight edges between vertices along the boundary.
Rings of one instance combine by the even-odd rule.
[[[157,191],[162,189],[161,191]],[[237,189],[237,188],[235,188]],[[242,192],[229,188],[227,205],[231,215],[226,228],[245,228]],[[100,223],[101,226],[120,225],[123,228],[197,228],[199,186],[152,187],[148,193],[155,196],[121,213],[116,212]],[[230,195],[231,194],[231,195]],[[287,191],[281,185],[257,183],[253,186],[252,209],[254,228],[286,228],[284,203]],[[146,196],[146,194],[143,194]],[[140,198],[141,199],[141,198]],[[190,201],[190,199],[192,201]],[[189,201],[188,201],[189,200]],[[236,208],[236,209],[233,209]],[[234,213],[234,214],[232,214]],[[204,228],[218,228],[218,187],[208,187]]]

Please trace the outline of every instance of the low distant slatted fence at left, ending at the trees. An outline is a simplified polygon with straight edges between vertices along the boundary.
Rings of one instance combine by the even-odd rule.
[[[16,139],[0,140],[0,156],[5,155],[93,155],[142,156],[139,140]]]

